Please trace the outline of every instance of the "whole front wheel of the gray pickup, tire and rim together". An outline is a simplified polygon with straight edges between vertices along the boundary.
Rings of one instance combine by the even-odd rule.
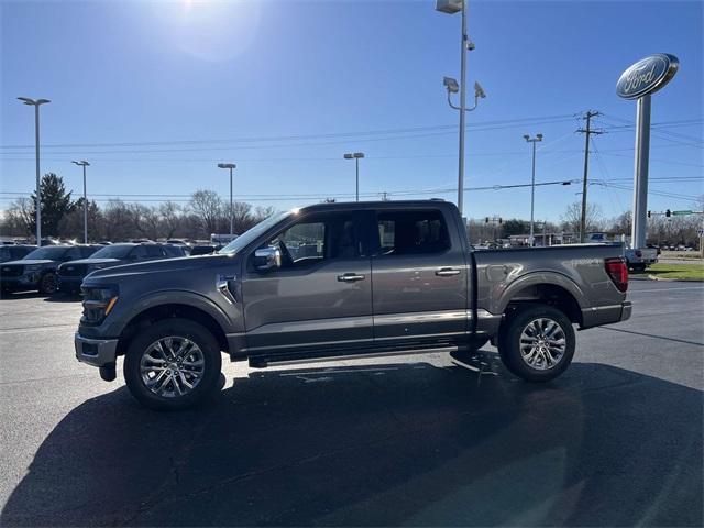
[[[124,378],[143,406],[180,410],[216,393],[221,366],[220,346],[207,328],[186,319],[165,319],[132,340]]]

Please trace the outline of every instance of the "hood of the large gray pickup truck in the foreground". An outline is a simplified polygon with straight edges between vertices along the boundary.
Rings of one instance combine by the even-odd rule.
[[[90,261],[95,263],[98,260]],[[177,258],[163,258],[158,261],[140,262],[136,264],[123,264],[114,267],[106,267],[96,270],[88,275],[87,279],[105,280],[129,280],[130,277],[148,278],[150,275],[174,274],[175,276],[184,276],[183,274],[196,270],[212,268],[222,266],[234,266],[234,257],[229,255],[202,255],[202,256],[180,256]]]

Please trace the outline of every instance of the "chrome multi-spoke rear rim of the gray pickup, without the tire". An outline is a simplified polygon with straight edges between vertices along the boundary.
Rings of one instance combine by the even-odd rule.
[[[565,350],[564,330],[552,319],[534,319],[520,333],[520,356],[537,371],[549,371],[557,366]]]

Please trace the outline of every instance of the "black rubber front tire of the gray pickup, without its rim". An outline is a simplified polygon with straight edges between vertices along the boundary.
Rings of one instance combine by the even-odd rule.
[[[188,392],[183,395],[169,395],[169,392],[166,392],[165,389],[162,394],[157,394],[155,391],[147,387],[144,380],[144,376],[152,373],[143,373],[143,358],[150,350],[152,350],[152,353],[155,352],[155,350],[152,349],[152,345],[166,338],[175,338],[175,343],[177,344],[185,342],[183,340],[188,340],[194,343],[199,352],[198,358],[201,358],[204,363],[202,372],[197,383],[193,383],[195,380],[189,378],[190,373],[185,370],[185,366],[183,367],[184,371],[179,370],[178,373],[179,375],[182,372],[185,373],[186,377],[180,375],[180,377],[177,378],[174,375],[172,376],[170,382],[167,380],[166,383],[161,383],[163,389],[164,386],[167,386],[172,388],[170,393],[175,393],[179,389],[176,386],[177,384],[183,387],[183,383],[179,383],[179,381],[183,380],[184,383],[186,383],[186,378],[188,378],[194,386],[191,389],[187,389]],[[191,348],[190,350],[196,349]],[[130,343],[124,358],[124,380],[127,381],[128,388],[132,393],[132,396],[134,396],[134,398],[144,407],[155,410],[186,409],[210,399],[220,388],[219,381],[220,370],[222,366],[222,358],[220,354],[220,345],[207,328],[186,319],[164,319],[153,323],[145,331],[138,334]],[[188,358],[189,355],[186,355],[186,359]],[[144,361],[150,363],[146,359]],[[186,362],[184,361],[184,364]],[[174,365],[174,363],[167,364],[164,362],[163,365],[164,369],[168,369],[168,365]],[[179,362],[177,367],[182,369],[180,365],[182,363]],[[165,371],[161,374],[165,373],[170,373],[170,371]],[[156,381],[156,383],[158,383],[158,381]],[[154,388],[156,389],[158,387]]]

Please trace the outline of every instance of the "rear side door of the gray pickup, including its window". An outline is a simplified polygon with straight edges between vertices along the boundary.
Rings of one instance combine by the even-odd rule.
[[[442,209],[381,209],[372,257],[375,344],[461,338],[469,268],[454,218]]]

